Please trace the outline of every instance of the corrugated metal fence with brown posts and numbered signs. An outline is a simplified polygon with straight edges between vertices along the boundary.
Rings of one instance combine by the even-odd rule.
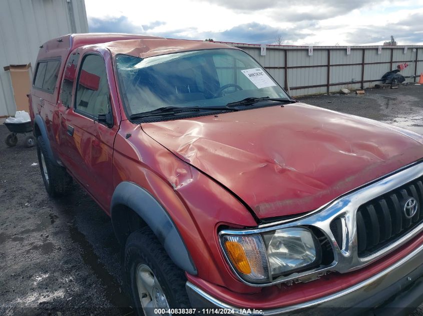
[[[381,46],[380,53],[379,46],[350,46],[350,54],[347,46],[314,46],[311,56],[308,46],[266,45],[262,56],[260,45],[225,43],[256,58],[293,96],[372,87],[381,83],[384,73],[403,63],[408,66],[400,73],[409,82],[418,81],[423,72],[421,45]]]

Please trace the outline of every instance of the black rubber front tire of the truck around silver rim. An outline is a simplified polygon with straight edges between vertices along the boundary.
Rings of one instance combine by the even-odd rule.
[[[153,291],[151,291],[157,295],[156,298],[161,298],[160,294],[163,293],[168,308],[190,308],[188,295],[185,290],[185,283],[187,281],[185,272],[175,266],[150,228],[144,227],[133,232],[128,237],[125,247],[124,263],[130,296],[134,309],[139,316],[160,315],[154,314],[154,308],[166,309],[166,304],[164,304],[163,300],[158,300],[153,303],[154,308],[147,308],[145,313],[143,313],[143,306],[141,303],[141,297],[143,295],[140,295],[140,292],[143,290],[141,289],[141,291],[139,291],[140,287],[137,285],[137,280],[142,278],[137,278],[137,272],[148,275],[148,269],[150,269],[153,274],[153,276],[150,275],[150,279],[154,278],[155,282],[157,281],[159,285],[156,287],[156,289],[159,290],[154,291],[153,288]],[[144,294],[144,297],[144,304],[151,300],[151,296],[149,295]]]

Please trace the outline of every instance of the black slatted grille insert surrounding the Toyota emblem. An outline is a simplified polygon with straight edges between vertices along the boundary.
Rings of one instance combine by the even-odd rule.
[[[357,210],[358,257],[365,257],[386,247],[423,222],[423,177],[385,193]],[[407,218],[404,205],[414,198],[417,212]]]

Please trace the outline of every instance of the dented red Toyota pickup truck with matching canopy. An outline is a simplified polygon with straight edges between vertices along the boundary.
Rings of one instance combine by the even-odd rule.
[[[42,45],[30,112],[47,192],[110,215],[139,315],[423,301],[418,134],[297,102],[241,49],[129,34]]]

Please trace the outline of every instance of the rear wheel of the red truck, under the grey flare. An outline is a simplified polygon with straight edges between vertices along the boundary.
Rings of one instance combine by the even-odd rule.
[[[72,187],[72,178],[65,168],[52,163],[42,136],[37,138],[37,155],[44,186],[50,197],[59,197]]]

